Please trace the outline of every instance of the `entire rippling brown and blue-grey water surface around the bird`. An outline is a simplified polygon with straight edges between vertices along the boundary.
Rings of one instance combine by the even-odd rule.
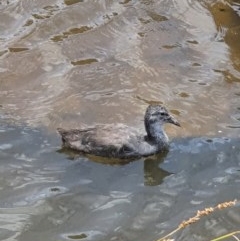
[[[0,239],[156,240],[239,199],[239,4],[0,2]],[[143,128],[166,105],[168,153],[129,163],[62,152],[57,127]],[[181,230],[239,229],[238,205]]]

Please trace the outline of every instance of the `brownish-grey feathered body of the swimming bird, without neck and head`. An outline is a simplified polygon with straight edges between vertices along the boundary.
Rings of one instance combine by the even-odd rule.
[[[87,129],[58,129],[63,145],[99,156],[127,158],[140,156],[144,135],[123,124],[98,125]]]

